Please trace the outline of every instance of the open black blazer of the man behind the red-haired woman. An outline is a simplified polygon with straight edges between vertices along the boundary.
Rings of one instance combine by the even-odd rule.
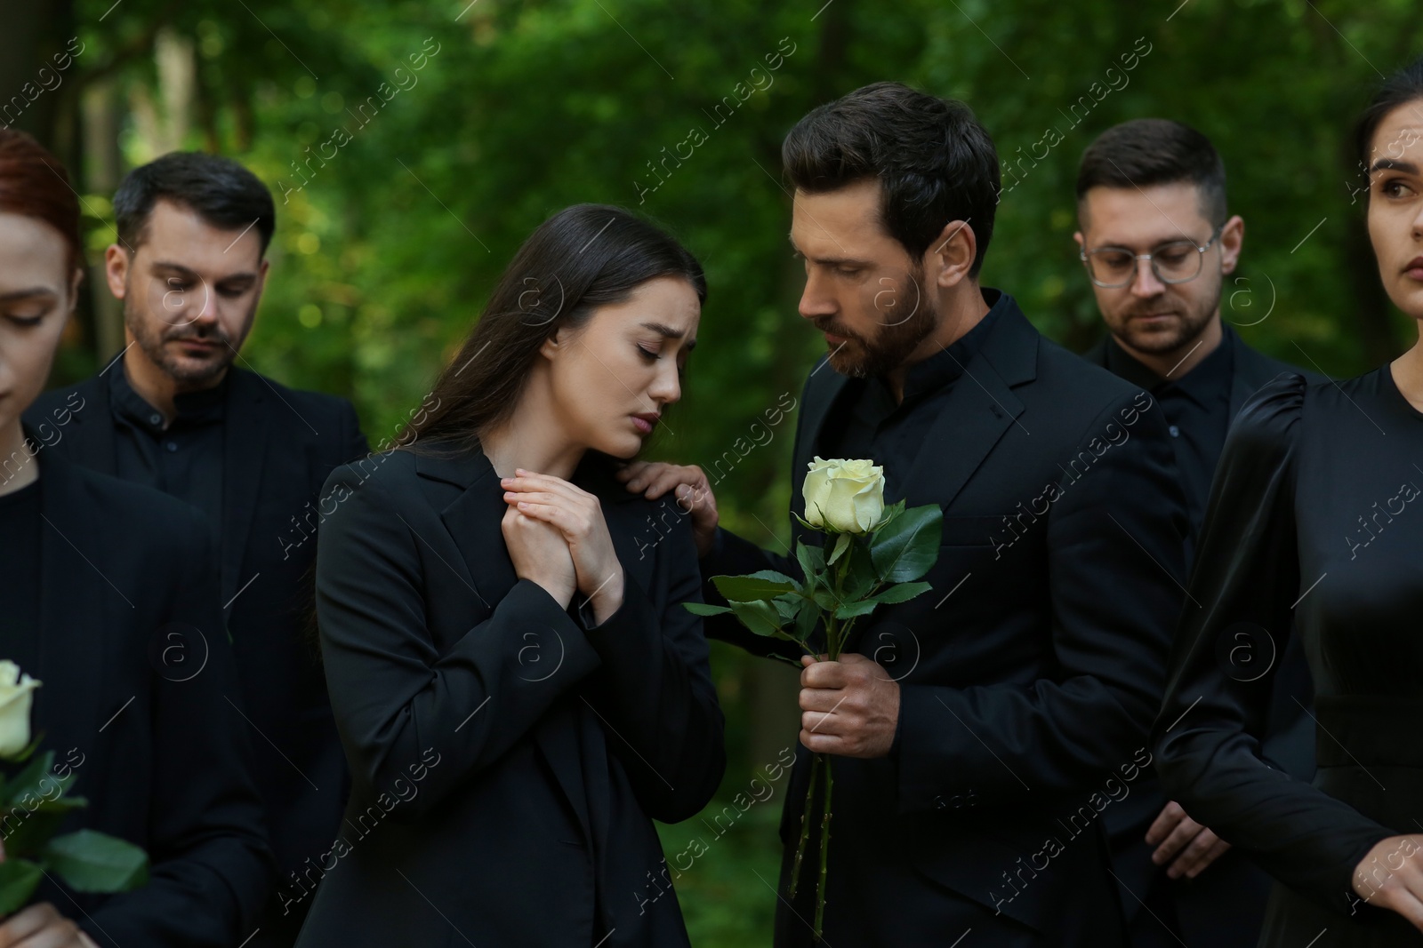
[[[111,364],[108,371],[122,368]],[[337,465],[366,453],[366,438],[343,398],[286,388],[236,367],[228,371],[219,603],[226,604],[249,726],[258,732],[255,776],[272,849],[279,871],[289,877],[330,846],[350,787],[307,632],[309,571],[322,483]],[[102,378],[46,392],[26,421],[51,445],[46,452],[115,473]]]

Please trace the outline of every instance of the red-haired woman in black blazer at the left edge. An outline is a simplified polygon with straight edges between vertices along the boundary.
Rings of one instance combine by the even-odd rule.
[[[30,722],[61,760],[46,779],[73,775],[88,800],[36,820],[122,837],[151,863],[147,885],[112,895],[50,874],[0,921],[0,945],[236,945],[276,873],[248,725],[233,712],[242,696],[208,524],[158,490],[65,460],[54,446],[83,402],[21,422],[83,260],[64,166],[0,128],[0,659],[41,682]],[[28,816],[0,813],[11,857]]]

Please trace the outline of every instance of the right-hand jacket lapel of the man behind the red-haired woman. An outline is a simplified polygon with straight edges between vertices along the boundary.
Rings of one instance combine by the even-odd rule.
[[[262,468],[268,448],[265,392],[260,381],[236,367],[228,391],[222,436],[222,601],[229,601],[242,583],[242,554],[262,490]]]

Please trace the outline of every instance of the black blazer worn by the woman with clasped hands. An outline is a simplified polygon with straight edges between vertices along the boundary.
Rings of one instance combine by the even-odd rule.
[[[327,482],[317,615],[353,789],[299,945],[687,944],[652,885],[652,819],[696,814],[726,766],[682,607],[700,600],[696,547],[605,455],[572,480],[625,573],[596,628],[515,577],[482,452],[394,451]]]

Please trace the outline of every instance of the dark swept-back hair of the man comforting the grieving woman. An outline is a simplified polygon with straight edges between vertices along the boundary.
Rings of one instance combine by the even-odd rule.
[[[951,220],[978,239],[969,276],[993,236],[999,172],[993,139],[968,105],[875,82],[814,108],[781,145],[785,175],[820,195],[879,181],[879,220],[915,264]]]

